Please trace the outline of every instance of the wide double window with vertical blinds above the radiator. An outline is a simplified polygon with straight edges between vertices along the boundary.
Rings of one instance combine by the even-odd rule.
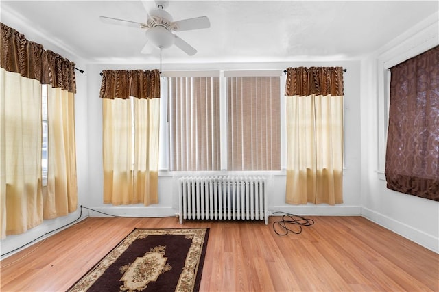
[[[168,77],[169,170],[281,170],[279,73]]]

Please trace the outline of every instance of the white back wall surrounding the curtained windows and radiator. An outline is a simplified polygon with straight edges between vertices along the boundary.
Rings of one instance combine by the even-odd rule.
[[[292,206],[285,204],[285,171],[275,175],[266,173],[268,177],[268,205],[269,210],[285,211],[298,215],[360,215],[361,198],[358,186],[360,185],[361,137],[360,137],[360,103],[359,103],[359,61],[344,62],[287,62],[263,64],[163,64],[163,70],[285,70],[289,66],[342,66],[347,69],[344,73],[345,93],[345,131],[346,131],[346,170],[344,171],[344,204],[334,207],[321,205]],[[88,76],[88,173],[89,197],[86,207],[112,215],[130,216],[172,216],[178,213],[178,184],[177,177],[171,172],[159,173],[159,204],[144,207],[142,204],[134,206],[117,206],[102,203],[103,172],[102,172],[102,101],[99,90],[102,70],[158,68],[158,64],[150,65],[102,65],[93,64],[87,67]],[[282,80],[285,80],[283,76]],[[283,129],[285,131],[285,127]],[[161,145],[161,151],[166,150]],[[285,163],[284,163],[285,164]],[[91,211],[91,215],[99,215]]]

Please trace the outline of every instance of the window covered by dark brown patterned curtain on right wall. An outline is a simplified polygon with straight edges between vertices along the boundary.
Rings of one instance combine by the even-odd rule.
[[[391,68],[385,178],[439,201],[439,46]]]

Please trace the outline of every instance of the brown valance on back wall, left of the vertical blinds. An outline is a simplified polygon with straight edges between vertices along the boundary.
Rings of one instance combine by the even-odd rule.
[[[160,72],[156,70],[104,70],[100,98],[160,97]]]

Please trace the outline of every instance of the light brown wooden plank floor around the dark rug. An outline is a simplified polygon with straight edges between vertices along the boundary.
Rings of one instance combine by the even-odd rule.
[[[200,291],[439,291],[439,255],[363,217],[273,222],[90,217],[5,258],[0,291],[65,291],[137,228],[209,227]]]

